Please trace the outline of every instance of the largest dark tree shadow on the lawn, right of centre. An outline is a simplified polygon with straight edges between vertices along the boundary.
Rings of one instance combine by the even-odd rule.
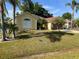
[[[61,41],[62,36],[64,35],[74,35],[73,33],[67,32],[47,32],[45,33],[46,37],[50,39],[51,42]]]

